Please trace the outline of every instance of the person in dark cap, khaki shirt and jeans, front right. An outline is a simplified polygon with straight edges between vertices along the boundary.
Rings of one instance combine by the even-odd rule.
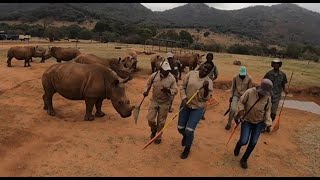
[[[238,113],[235,117],[236,123],[241,124],[240,139],[234,148],[234,155],[238,156],[241,147],[249,145],[243,154],[240,165],[247,169],[247,160],[254,150],[260,133],[267,126],[272,125],[270,117],[271,98],[273,84],[269,79],[263,79],[259,87],[248,89],[239,100]]]

